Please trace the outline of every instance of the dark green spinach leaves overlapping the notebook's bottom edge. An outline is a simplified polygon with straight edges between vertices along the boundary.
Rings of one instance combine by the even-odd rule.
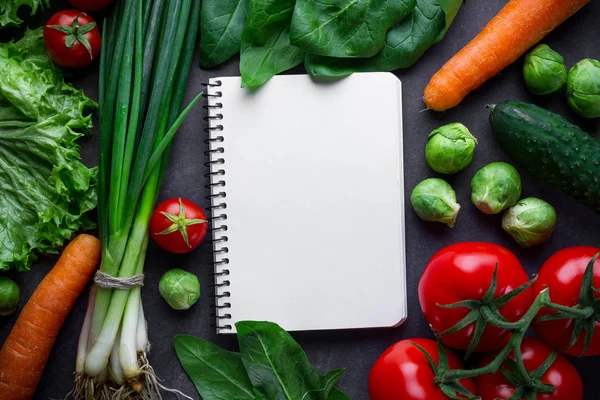
[[[204,400],[349,400],[335,384],[344,370],[320,375],[294,339],[271,322],[236,324],[241,354],[178,335],[175,351]]]

